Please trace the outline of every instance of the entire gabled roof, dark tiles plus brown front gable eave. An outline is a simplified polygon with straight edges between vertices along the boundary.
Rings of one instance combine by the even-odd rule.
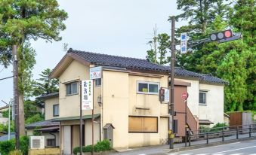
[[[104,67],[122,68],[126,70],[138,71],[155,71],[160,74],[169,74],[171,68],[169,66],[158,65],[149,62],[147,59],[136,59],[124,56],[111,56],[101,53],[91,53],[80,50],[72,50],[70,48],[63,59],[60,60],[58,65],[51,72],[51,78],[58,78],[62,71],[76,59],[84,65],[100,65]],[[196,78],[199,81],[204,81],[212,84],[227,84],[226,81],[211,76],[210,74],[199,74],[193,71],[187,71],[184,68],[176,67],[174,69],[174,76],[184,78]]]

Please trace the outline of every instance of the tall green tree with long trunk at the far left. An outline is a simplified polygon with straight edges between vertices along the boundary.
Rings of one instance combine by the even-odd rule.
[[[20,135],[25,134],[23,95],[28,72],[22,62],[26,57],[26,44],[30,39],[38,38],[46,41],[60,41],[60,32],[66,29],[63,23],[67,14],[60,10],[56,0],[2,0],[0,1],[0,49],[3,60],[1,64],[9,65],[12,45],[17,44],[19,65],[19,102],[20,102]],[[31,51],[31,48],[30,48]],[[32,58],[31,58],[32,59]],[[30,64],[31,65],[31,64]]]

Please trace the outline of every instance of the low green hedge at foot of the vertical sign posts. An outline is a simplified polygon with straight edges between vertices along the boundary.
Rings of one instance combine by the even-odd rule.
[[[91,145],[82,147],[82,152],[91,152],[91,150],[92,150]],[[94,145],[94,152],[100,152],[103,150],[112,150],[112,148],[110,147],[109,141],[106,139],[104,139],[103,141],[99,141],[97,142],[97,144]],[[80,152],[80,147],[75,147],[73,150],[73,153],[77,154],[79,152]]]

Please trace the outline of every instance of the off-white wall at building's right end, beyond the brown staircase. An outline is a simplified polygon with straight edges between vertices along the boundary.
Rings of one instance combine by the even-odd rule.
[[[224,123],[224,86],[199,84],[199,90],[208,91],[206,105],[199,105],[199,119]]]

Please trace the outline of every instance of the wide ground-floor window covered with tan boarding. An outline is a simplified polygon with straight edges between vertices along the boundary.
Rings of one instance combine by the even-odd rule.
[[[129,116],[129,132],[158,132],[157,118]]]

